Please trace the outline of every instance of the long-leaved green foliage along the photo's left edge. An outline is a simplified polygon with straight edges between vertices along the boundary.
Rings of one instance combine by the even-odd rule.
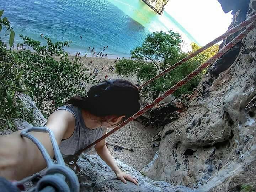
[[[9,46],[14,42],[14,31],[6,17],[1,18],[4,11],[0,11],[0,32],[6,28],[5,35],[9,35]],[[7,45],[1,41],[0,37],[0,129],[15,129],[13,119],[23,118],[29,121],[31,112],[23,109],[21,101],[17,95],[22,92],[29,93],[28,87],[24,86],[23,71],[18,70],[21,65],[15,52],[6,49]],[[30,92],[31,93],[31,92]]]

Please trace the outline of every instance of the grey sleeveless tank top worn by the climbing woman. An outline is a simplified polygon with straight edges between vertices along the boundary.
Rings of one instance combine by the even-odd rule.
[[[62,140],[59,145],[60,151],[63,157],[74,155],[77,151],[84,149],[86,146],[102,137],[105,132],[105,128],[98,127],[96,129],[89,129],[85,126],[84,119],[82,118],[81,108],[73,105],[63,105],[57,110],[66,110],[72,113],[75,117],[75,130],[71,137]],[[54,112],[55,112],[54,111]],[[92,148],[87,149],[84,153],[90,151]]]

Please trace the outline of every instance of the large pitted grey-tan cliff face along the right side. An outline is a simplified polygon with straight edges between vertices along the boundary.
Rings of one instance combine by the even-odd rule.
[[[249,6],[231,9],[232,25],[256,14],[256,0]],[[255,95],[256,29],[209,68],[180,118],[164,127],[159,152],[142,172],[198,191],[255,188]]]

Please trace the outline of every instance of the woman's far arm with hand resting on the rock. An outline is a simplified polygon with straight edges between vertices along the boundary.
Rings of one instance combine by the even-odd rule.
[[[106,134],[106,131],[104,134]],[[119,180],[121,180],[123,183],[126,183],[126,180],[129,180],[129,181],[135,183],[136,185],[138,184],[136,178],[133,178],[129,174],[122,172],[118,168],[118,166],[114,162],[107,146],[105,145],[105,139],[101,140],[100,142],[98,142],[95,145],[95,150],[97,151],[97,153],[101,157],[101,159],[103,161],[105,161],[106,164],[108,164],[108,166],[111,167],[111,169],[115,172],[115,174]]]

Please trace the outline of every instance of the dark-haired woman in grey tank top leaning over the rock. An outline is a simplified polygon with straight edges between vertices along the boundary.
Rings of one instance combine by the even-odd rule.
[[[48,118],[51,129],[65,158],[84,149],[125,119],[139,111],[139,91],[132,83],[106,80],[90,88],[88,97],[71,97]],[[47,133],[31,132],[53,158],[53,148]],[[46,163],[31,140],[21,137],[20,131],[0,136],[0,177],[20,180],[46,167]],[[137,184],[132,176],[115,164],[105,145],[105,139],[95,145],[98,155],[112,168],[119,180]],[[86,150],[88,152],[90,149]]]

